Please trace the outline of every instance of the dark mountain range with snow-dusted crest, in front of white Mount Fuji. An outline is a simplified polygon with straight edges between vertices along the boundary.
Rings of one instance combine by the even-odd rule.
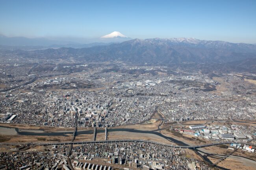
[[[195,38],[152,38],[91,48],[45,49],[23,53],[30,57],[74,57],[85,61],[137,64],[224,63],[256,58],[256,45]]]

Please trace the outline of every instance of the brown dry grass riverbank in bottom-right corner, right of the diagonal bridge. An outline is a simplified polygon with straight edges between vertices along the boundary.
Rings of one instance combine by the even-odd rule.
[[[227,168],[230,170],[256,170],[255,163],[244,163],[243,159],[241,161],[238,161],[237,159],[233,159],[228,157],[224,161],[221,161],[218,166],[221,166],[223,168]]]

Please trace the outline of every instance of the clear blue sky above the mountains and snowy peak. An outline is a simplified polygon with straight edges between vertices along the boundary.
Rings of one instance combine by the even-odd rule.
[[[0,0],[0,34],[256,43],[256,0]]]

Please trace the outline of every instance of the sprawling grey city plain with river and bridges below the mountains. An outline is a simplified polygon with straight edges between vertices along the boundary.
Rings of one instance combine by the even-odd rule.
[[[0,170],[210,170],[239,154],[255,162],[255,86],[247,72],[2,52]]]

